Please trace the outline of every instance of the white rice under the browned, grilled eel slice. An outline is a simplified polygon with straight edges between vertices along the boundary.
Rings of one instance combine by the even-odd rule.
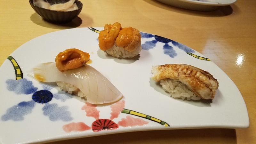
[[[164,91],[169,92],[170,96],[175,99],[182,100],[200,100],[201,98],[196,96],[194,92],[188,89],[188,87],[181,83],[178,80],[173,79],[164,79],[160,80],[160,84],[162,85]]]

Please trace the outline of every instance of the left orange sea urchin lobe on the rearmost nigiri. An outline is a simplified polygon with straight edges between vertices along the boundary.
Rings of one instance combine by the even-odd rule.
[[[118,22],[113,25],[105,25],[104,30],[100,31],[98,37],[100,50],[106,51],[115,44],[116,37],[118,36],[121,28],[121,24]]]

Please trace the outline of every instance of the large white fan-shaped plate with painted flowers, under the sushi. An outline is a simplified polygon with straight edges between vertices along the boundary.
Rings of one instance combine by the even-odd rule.
[[[0,143],[48,142],[131,131],[249,126],[246,105],[236,85],[202,54],[170,39],[141,33],[140,56],[117,59],[99,50],[98,33],[91,29],[67,29],[39,36],[21,45],[10,60],[4,61],[0,68]],[[90,65],[106,76],[124,98],[112,105],[92,107],[82,98],[59,91],[55,84],[39,83],[27,75],[28,69],[54,61],[59,52],[68,48],[90,53]],[[160,84],[151,80],[152,66],[173,63],[210,72],[219,81],[212,102],[171,98]],[[52,93],[52,99],[38,103],[32,100],[36,93],[48,98]],[[96,114],[90,115],[88,108]],[[119,113],[122,110],[124,113]],[[95,132],[95,121],[112,125],[104,126],[109,130]]]

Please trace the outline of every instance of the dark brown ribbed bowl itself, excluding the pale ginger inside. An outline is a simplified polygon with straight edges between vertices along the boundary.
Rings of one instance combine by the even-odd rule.
[[[46,0],[44,1],[46,2]],[[69,0],[47,0],[47,2],[50,4],[66,3],[68,1]],[[76,18],[83,8],[83,4],[78,0],[75,1],[78,9],[68,12],[53,11],[38,7],[35,4],[33,4],[33,0],[29,0],[29,3],[31,7],[36,11],[36,13],[38,13],[42,18],[44,18],[44,20],[53,23],[68,23],[74,18]]]

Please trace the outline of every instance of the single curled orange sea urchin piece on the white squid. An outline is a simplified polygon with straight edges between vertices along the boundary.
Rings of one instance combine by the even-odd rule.
[[[90,54],[78,49],[67,49],[60,52],[56,58],[56,67],[61,71],[75,69],[83,66],[90,60]]]

